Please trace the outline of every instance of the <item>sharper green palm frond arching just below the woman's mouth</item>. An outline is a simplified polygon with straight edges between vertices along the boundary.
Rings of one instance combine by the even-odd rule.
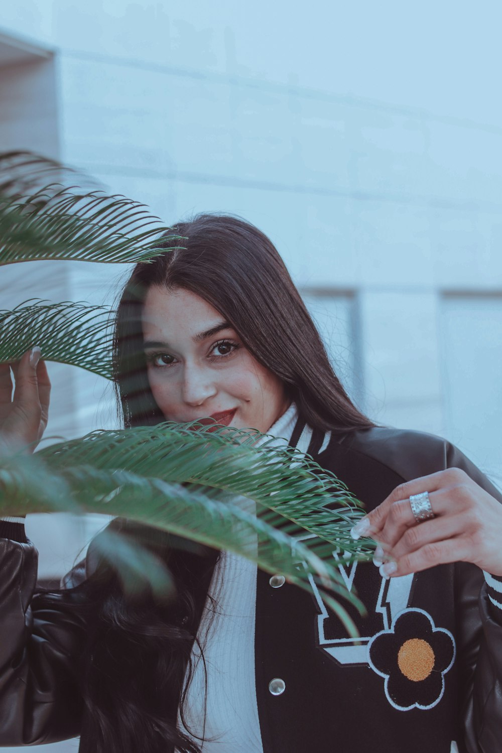
[[[81,439],[53,444],[37,453],[49,468],[126,468],[169,483],[211,487],[251,498],[259,514],[286,532],[315,535],[322,556],[333,549],[361,556],[350,529],[361,517],[361,502],[329,471],[291,447],[273,447],[266,435],[232,427],[197,431],[197,424],[93,431]],[[330,504],[332,509],[327,509]],[[333,505],[335,507],[333,508]],[[263,511],[262,511],[263,508]]]

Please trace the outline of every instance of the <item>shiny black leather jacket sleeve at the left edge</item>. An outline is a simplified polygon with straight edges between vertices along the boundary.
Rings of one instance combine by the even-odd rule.
[[[81,719],[78,593],[34,595],[38,553],[17,528],[0,538],[0,746],[75,737]]]

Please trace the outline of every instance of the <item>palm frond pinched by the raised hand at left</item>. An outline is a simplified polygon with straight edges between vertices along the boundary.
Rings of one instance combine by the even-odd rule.
[[[106,306],[36,298],[11,311],[0,310],[0,363],[17,361],[39,345],[47,361],[80,366],[111,379],[112,313]]]

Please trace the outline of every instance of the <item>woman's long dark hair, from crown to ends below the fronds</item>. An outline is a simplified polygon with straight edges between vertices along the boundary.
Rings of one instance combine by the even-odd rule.
[[[257,227],[230,215],[197,215],[172,227],[160,247],[166,252],[135,266],[117,309],[114,382],[124,426],[165,418],[151,395],[142,349],[141,310],[151,285],[192,291],[221,312],[254,358],[282,380],[312,427],[346,432],[373,426],[348,398],[288,270]],[[173,556],[172,537],[124,521],[114,525],[174,572],[177,600],[159,603],[150,593],[130,599],[111,562],[100,562],[85,581],[92,619],[82,672],[82,749],[198,753],[176,729],[176,713],[178,705],[183,713],[184,676],[188,669],[190,679],[205,596],[196,598],[196,587],[207,590],[214,553],[187,559],[178,548]]]

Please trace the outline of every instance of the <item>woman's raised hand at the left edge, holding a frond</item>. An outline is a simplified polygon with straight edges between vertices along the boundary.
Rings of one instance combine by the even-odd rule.
[[[50,380],[40,348],[27,350],[20,361],[0,364],[0,449],[35,450],[47,426],[49,399]]]

